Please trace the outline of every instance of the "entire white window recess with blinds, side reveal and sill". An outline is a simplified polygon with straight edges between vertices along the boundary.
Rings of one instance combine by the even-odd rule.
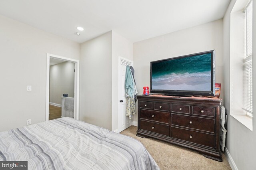
[[[230,115],[250,130],[253,113],[252,22],[252,0],[236,0],[230,12],[229,109]]]

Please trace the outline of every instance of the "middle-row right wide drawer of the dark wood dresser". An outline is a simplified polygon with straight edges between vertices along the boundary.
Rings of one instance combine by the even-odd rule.
[[[214,132],[214,119],[172,114],[172,125]]]

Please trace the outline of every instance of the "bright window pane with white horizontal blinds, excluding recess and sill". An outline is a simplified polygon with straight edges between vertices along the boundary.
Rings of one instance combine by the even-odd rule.
[[[243,109],[252,117],[252,1],[244,10],[246,19],[246,50],[244,57]]]

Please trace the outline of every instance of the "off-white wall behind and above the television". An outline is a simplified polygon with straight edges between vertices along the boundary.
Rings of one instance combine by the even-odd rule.
[[[222,20],[134,43],[135,79],[139,94],[150,87],[150,61],[216,50],[216,83],[223,85]],[[224,88],[220,98],[223,98]],[[137,119],[135,120],[137,121]]]

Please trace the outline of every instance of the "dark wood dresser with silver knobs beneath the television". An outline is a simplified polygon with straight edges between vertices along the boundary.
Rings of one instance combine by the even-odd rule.
[[[198,150],[222,161],[220,153],[220,105],[207,97],[138,95],[137,136],[153,137]]]

